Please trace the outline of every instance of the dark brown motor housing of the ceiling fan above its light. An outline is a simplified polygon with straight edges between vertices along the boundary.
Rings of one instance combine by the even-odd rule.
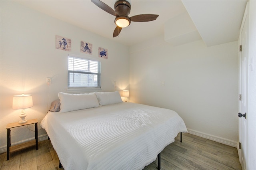
[[[131,4],[126,0],[118,0],[116,1],[115,5],[115,12],[118,16],[127,16],[130,14],[131,11]]]

